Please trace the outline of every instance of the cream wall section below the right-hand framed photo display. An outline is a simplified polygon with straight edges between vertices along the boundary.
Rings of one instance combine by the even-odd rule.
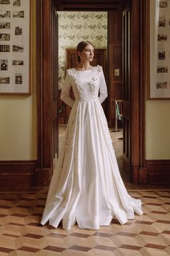
[[[146,101],[146,159],[170,159],[170,101]]]

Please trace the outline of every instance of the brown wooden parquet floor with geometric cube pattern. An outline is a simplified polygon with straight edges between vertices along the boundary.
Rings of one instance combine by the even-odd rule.
[[[0,255],[170,255],[170,189],[129,190],[143,201],[143,216],[98,231],[40,225],[47,189],[0,192]]]

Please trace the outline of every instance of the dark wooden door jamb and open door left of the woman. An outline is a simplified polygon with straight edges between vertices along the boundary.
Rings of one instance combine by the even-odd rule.
[[[35,185],[50,183],[58,155],[58,16],[37,0],[37,168]]]

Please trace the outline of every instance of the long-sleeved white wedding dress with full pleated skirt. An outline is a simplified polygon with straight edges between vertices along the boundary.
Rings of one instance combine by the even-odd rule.
[[[73,88],[75,101],[69,97]],[[63,229],[78,223],[81,229],[109,226],[115,216],[123,224],[143,214],[142,202],[128,195],[101,103],[107,98],[102,67],[68,69],[61,99],[71,114],[61,155],[50,183],[42,216]]]

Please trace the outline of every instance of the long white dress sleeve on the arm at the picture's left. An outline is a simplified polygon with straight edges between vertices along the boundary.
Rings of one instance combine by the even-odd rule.
[[[72,108],[74,101],[69,96],[70,88],[71,88],[71,78],[67,72],[66,78],[63,82],[63,88],[61,90],[61,101],[63,101],[64,103],[66,103],[68,106]]]

